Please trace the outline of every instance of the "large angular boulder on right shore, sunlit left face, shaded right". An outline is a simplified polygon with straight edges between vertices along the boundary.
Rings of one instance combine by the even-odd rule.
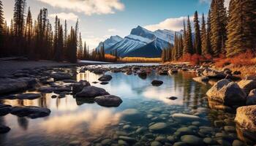
[[[207,91],[206,95],[209,100],[217,101],[230,107],[244,105],[246,102],[246,94],[244,91],[236,82],[230,82],[227,79],[216,82],[214,86]]]

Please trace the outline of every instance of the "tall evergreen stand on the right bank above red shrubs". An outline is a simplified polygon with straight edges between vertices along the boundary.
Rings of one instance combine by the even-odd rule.
[[[175,35],[174,45],[162,52],[162,61],[189,61],[200,58],[234,57],[256,50],[256,1],[231,0],[228,10],[225,0],[212,0],[207,21],[197,11],[194,15],[195,37],[189,20],[184,20],[184,34]]]

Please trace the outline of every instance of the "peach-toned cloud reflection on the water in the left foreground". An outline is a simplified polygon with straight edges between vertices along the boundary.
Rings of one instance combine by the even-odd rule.
[[[75,131],[75,127],[86,124],[88,132],[97,134],[102,132],[106,126],[115,125],[121,118],[121,113],[114,113],[111,109],[93,110],[87,109],[83,112],[56,115],[41,123],[48,133],[59,133]]]

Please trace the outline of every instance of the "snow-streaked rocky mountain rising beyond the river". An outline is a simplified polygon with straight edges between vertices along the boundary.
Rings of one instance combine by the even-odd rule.
[[[121,57],[160,57],[162,49],[173,44],[176,33],[181,34],[181,31],[157,30],[153,32],[138,26],[133,28],[124,39],[120,41],[118,39],[115,44],[108,43],[107,39],[104,43],[105,52],[111,53],[111,51],[117,50]]]

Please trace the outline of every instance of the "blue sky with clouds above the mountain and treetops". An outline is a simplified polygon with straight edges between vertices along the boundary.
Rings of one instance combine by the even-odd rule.
[[[39,9],[48,8],[50,21],[55,15],[69,27],[80,21],[83,40],[91,48],[111,35],[124,37],[132,28],[143,26],[151,31],[158,28],[180,30],[183,18],[207,13],[211,0],[27,0],[31,7],[33,19],[37,18]],[[4,15],[10,23],[13,15],[14,0],[2,0]]]

